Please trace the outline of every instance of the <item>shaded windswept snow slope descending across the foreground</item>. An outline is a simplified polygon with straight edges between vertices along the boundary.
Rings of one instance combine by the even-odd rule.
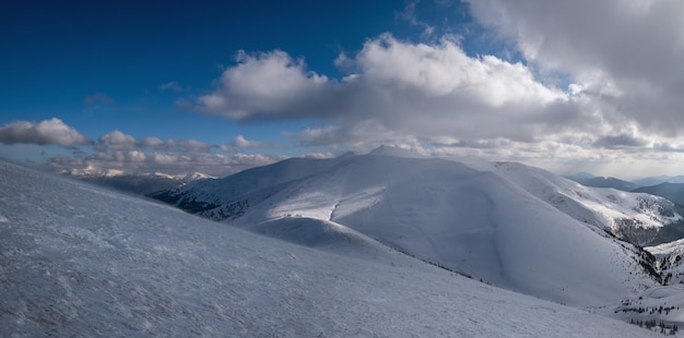
[[[347,258],[0,161],[0,336],[657,337],[398,253]]]

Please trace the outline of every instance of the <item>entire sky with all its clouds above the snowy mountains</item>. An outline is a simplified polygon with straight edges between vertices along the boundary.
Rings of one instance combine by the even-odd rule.
[[[56,171],[226,174],[389,144],[556,172],[682,173],[681,10],[3,4],[0,156]]]

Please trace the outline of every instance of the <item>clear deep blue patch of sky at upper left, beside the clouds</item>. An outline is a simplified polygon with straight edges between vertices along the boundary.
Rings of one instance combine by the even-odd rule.
[[[392,5],[284,5],[281,1],[17,3],[3,11],[2,113],[8,120],[52,116],[96,138],[111,129],[137,136],[226,142],[234,133],[273,137],[177,108],[175,100],[211,88],[237,50],[287,50],[311,68],[335,72],[344,48],[367,33],[400,26]],[[350,25],[350,22],[355,24]],[[173,84],[162,89],[164,84]],[[87,102],[89,97],[102,96]],[[38,97],[37,97],[38,96]],[[188,124],[190,123],[190,124]],[[227,138],[226,138],[227,137]]]

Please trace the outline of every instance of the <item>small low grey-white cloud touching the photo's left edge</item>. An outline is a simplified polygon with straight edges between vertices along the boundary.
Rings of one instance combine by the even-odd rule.
[[[67,125],[62,120],[52,118],[40,122],[15,121],[0,126],[0,143],[16,144],[57,144],[71,146],[92,144],[93,142]]]

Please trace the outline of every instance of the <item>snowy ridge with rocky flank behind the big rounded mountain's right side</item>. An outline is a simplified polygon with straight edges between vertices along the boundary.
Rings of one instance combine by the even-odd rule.
[[[512,182],[564,214],[647,246],[684,238],[684,208],[663,197],[583,186],[514,162],[471,165]]]

